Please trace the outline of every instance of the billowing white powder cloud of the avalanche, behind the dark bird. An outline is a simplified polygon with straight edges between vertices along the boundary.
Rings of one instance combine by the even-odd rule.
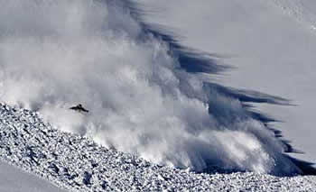
[[[2,102],[155,163],[301,172],[241,102],[181,67],[125,2],[0,0]]]

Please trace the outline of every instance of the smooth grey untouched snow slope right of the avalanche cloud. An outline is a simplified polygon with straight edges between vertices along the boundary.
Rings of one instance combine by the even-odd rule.
[[[139,2],[139,1],[138,1]],[[221,85],[289,99],[293,105],[253,104],[281,121],[270,123],[316,162],[316,3],[314,0],[141,1],[148,23],[181,34],[181,44],[222,55],[236,69]]]

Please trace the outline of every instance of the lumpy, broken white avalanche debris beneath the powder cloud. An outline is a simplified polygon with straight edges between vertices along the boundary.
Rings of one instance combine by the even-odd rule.
[[[86,137],[62,133],[43,123],[37,113],[4,104],[0,104],[0,138],[1,160],[70,191],[316,191],[313,176],[209,175],[158,166]]]

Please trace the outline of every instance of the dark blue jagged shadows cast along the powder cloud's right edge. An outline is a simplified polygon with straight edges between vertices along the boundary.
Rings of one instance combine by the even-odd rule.
[[[220,59],[223,59],[222,53],[208,53],[202,50],[194,50],[181,45],[180,36],[176,33],[170,31],[168,27],[159,25],[159,24],[150,24],[145,23],[142,18],[144,18],[145,14],[143,10],[137,9],[141,5],[137,5],[135,2],[129,2],[126,4],[130,10],[133,11],[135,18],[142,23],[144,28],[144,32],[148,32],[153,34],[156,38],[162,39],[167,42],[171,48],[171,54],[176,56],[179,60],[182,69],[185,69],[189,73],[205,73],[209,75],[220,75],[225,72],[229,72],[229,70],[236,69],[228,64],[220,63]],[[304,153],[303,151],[296,150],[291,141],[285,140],[283,138],[282,131],[275,129],[271,126],[270,123],[278,122],[282,123],[279,120],[275,119],[273,116],[269,114],[263,114],[261,112],[256,111],[256,108],[252,105],[254,103],[257,104],[270,104],[270,105],[293,105],[293,101],[283,98],[282,96],[273,96],[265,93],[258,92],[256,90],[246,90],[246,89],[238,89],[234,87],[225,87],[217,83],[213,82],[205,82],[205,87],[210,87],[212,89],[216,89],[216,91],[224,96],[228,96],[240,101],[245,108],[246,113],[249,114],[252,118],[256,119],[265,124],[265,128],[272,133],[274,133],[274,137],[278,138],[280,142],[283,143],[284,146],[284,156],[289,160],[293,161],[293,163],[302,170],[303,175],[316,175],[316,168],[313,167],[315,165],[314,162],[309,162],[305,160],[299,160],[288,155],[289,153]],[[249,104],[250,103],[250,104]],[[211,114],[212,112],[209,111]],[[217,115],[216,113],[213,115]],[[218,113],[218,115],[222,115]],[[231,115],[231,114],[229,114]],[[228,116],[224,116],[223,121],[227,121]],[[219,118],[220,119],[220,118]],[[240,171],[240,169],[221,169],[216,166],[210,165],[208,169],[204,169],[204,172],[208,173],[232,173]]]

